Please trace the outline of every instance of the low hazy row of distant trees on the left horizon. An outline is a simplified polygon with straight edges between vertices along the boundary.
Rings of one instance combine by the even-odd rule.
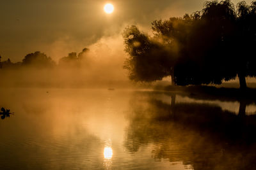
[[[84,48],[82,52],[68,53],[67,57],[62,57],[58,64],[51,57],[45,55],[42,52],[28,53],[21,62],[12,62],[10,59],[1,61],[0,56],[0,68],[1,69],[17,69],[20,67],[35,67],[35,68],[52,68],[56,66],[67,66],[67,67],[77,67],[81,66],[81,63],[86,60],[86,53],[89,49]]]

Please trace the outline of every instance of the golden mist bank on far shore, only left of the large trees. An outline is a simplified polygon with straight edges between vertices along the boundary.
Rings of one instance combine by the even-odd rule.
[[[13,66],[4,65],[0,77],[2,87],[88,87],[115,88],[130,87],[132,85],[123,69],[127,55],[124,52],[122,36],[116,35],[101,38],[97,43],[88,46],[88,51],[81,55],[81,59],[70,59],[61,64],[61,57],[51,57],[55,66],[38,66],[36,60],[25,65],[16,63]],[[64,43],[56,46],[56,52],[67,52]],[[82,49],[81,49],[82,50]],[[47,55],[47,54],[46,54]],[[66,55],[66,56],[67,56]],[[57,53],[56,53],[56,56]],[[64,56],[62,56],[64,57]]]

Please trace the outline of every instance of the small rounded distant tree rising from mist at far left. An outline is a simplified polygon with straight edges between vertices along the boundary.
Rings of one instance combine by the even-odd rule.
[[[22,66],[44,68],[54,67],[55,65],[56,63],[51,57],[47,57],[47,55],[41,52],[29,53],[22,60]]]

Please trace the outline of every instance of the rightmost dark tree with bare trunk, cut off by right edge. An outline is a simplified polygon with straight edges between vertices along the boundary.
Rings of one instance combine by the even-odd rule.
[[[256,76],[256,1],[248,6],[237,4],[236,58],[241,87],[246,88],[245,76]]]

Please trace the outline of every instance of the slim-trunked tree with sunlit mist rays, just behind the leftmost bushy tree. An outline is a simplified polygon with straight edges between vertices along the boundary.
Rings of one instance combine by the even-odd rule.
[[[183,18],[172,17],[169,20],[155,20],[152,22],[153,39],[167,49],[165,66],[169,67],[172,76],[172,85],[175,83],[175,66],[184,53],[184,48],[191,31],[192,19],[188,14]],[[160,54],[160,53],[159,53]]]

